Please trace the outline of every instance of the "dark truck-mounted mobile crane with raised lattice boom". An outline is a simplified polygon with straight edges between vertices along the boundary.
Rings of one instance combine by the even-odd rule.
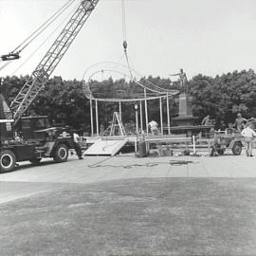
[[[80,2],[9,107],[0,95],[0,173],[12,171],[19,161],[29,160],[36,164],[42,157],[53,157],[56,162],[67,160],[68,149],[73,148],[73,140],[68,130],[50,127],[44,116],[23,117],[23,115],[44,89],[49,76],[64,57],[66,50],[73,43],[98,2],[99,0]],[[19,54],[10,53],[0,57],[2,61],[11,61],[18,59]],[[9,113],[11,118],[7,117]],[[22,139],[15,138],[17,131],[22,133]]]

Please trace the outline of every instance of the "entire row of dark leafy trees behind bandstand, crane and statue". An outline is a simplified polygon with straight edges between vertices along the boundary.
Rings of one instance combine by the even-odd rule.
[[[6,77],[1,86],[1,93],[8,103],[14,99],[27,77]],[[148,77],[139,81],[150,86],[149,82],[163,88],[171,87],[169,79]],[[192,113],[202,119],[210,115],[217,123],[224,120],[226,124],[233,122],[235,115],[241,112],[246,118],[256,117],[256,74],[252,69],[248,71],[234,71],[211,78],[197,75],[188,82],[192,96]],[[92,81],[91,87],[98,98],[143,98],[143,88],[135,82],[125,80],[114,81],[112,78],[97,82]],[[154,96],[147,92],[148,96]],[[166,101],[163,101],[163,115],[166,117]],[[123,122],[134,122],[134,102],[122,104]],[[149,119],[159,121],[159,101],[150,101]],[[171,116],[177,115],[177,101],[170,101]],[[82,92],[82,82],[64,81],[61,77],[54,77],[47,82],[45,89],[33,102],[28,111],[35,111],[38,115],[47,115],[52,121],[64,122],[76,128],[90,131],[89,101]],[[119,104],[101,102],[99,104],[100,123],[107,125],[112,119],[113,112],[119,111]],[[165,119],[165,118],[164,118]]]

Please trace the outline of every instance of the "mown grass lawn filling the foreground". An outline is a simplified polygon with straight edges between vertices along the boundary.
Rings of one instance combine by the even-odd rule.
[[[66,185],[0,205],[0,255],[256,255],[256,179]]]

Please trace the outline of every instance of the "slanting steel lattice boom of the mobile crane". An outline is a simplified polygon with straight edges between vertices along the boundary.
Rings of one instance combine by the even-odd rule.
[[[99,0],[81,1],[78,9],[76,9],[58,38],[46,52],[45,57],[32,72],[14,101],[11,102],[10,109],[13,113],[15,123],[21,119],[27,107],[44,88],[49,76],[62,60],[64,53],[72,44],[98,2]]]

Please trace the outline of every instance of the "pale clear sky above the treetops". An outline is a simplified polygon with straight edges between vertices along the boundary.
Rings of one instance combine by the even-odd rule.
[[[215,76],[255,69],[255,0],[124,2],[129,60],[143,76],[167,78],[180,68],[189,78],[199,73]],[[0,0],[0,55],[18,46],[64,3],[66,0]],[[49,27],[27,46],[22,58],[1,70],[0,76],[30,74],[60,29],[26,64],[18,70],[17,67],[54,28]],[[119,62],[123,55],[122,41],[121,0],[100,0],[53,76],[81,80],[84,71],[93,64]]]

